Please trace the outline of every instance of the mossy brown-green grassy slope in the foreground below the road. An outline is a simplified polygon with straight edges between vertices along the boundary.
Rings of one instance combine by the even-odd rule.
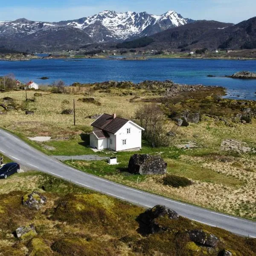
[[[38,211],[23,207],[32,191],[47,197]],[[38,172],[19,173],[0,180],[0,255],[12,256],[217,256],[228,249],[236,256],[256,255],[255,239],[189,221],[161,220],[169,231],[142,236],[136,218],[144,209],[80,188]],[[12,233],[34,224],[37,236],[20,241]],[[141,228],[141,227],[140,227]],[[207,230],[221,239],[208,250],[189,241],[186,230]]]

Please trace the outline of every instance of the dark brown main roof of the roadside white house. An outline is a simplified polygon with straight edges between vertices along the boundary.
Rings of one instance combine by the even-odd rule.
[[[104,131],[108,131],[112,134],[115,134],[119,131],[129,120],[116,117],[113,119],[112,115],[103,114],[96,121],[94,121],[91,125],[93,127],[99,128]]]

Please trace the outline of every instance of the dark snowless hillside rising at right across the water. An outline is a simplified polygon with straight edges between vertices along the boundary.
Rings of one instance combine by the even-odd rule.
[[[200,48],[254,49],[256,48],[256,17],[236,25],[214,20],[200,20],[167,29],[148,38],[146,41],[150,43],[147,49],[183,49],[186,51]],[[145,41],[145,38],[140,38],[140,40]],[[138,39],[125,43],[136,47]],[[118,46],[118,48],[121,47]]]

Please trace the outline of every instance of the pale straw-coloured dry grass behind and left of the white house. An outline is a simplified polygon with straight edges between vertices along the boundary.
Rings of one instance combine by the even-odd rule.
[[[76,88],[76,87],[75,87]],[[28,91],[28,98],[32,99],[35,91]],[[36,97],[35,102],[27,103],[29,110],[35,111],[34,115],[26,115],[25,111],[8,111],[5,115],[1,115],[1,126],[12,131],[17,131],[25,136],[51,136],[70,137],[81,133],[84,126],[90,126],[93,120],[87,119],[100,113],[118,113],[119,116],[131,118],[137,108],[143,103],[134,103],[129,100],[133,96],[103,96],[102,93],[93,92],[92,96],[102,105],[98,106],[92,103],[84,103],[77,101],[84,97],[82,93],[78,94],[54,94],[43,92],[42,97]],[[24,105],[25,92],[11,91],[1,93],[0,97],[9,96],[15,99],[17,105]],[[65,108],[73,108],[73,99],[76,104],[76,125],[73,126],[73,115],[62,115],[61,111]],[[62,103],[68,100],[69,104]],[[79,131],[77,131],[79,130]]]

